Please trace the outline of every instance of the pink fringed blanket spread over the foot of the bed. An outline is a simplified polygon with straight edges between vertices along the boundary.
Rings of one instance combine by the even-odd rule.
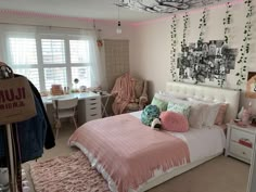
[[[152,130],[129,114],[85,124],[71,137],[69,144],[75,143],[98,159],[118,192],[138,189],[155,169],[165,171],[190,162],[185,142]]]

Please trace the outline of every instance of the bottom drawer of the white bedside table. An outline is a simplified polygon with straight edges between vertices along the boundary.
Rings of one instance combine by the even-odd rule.
[[[235,142],[230,142],[230,152],[245,159],[252,158],[253,150]]]

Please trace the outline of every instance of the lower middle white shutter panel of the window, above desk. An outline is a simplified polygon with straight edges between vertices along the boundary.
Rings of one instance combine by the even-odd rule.
[[[52,85],[67,86],[66,67],[44,68],[46,89],[50,90]]]

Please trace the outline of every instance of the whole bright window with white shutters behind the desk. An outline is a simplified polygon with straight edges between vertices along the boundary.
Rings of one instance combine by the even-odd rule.
[[[90,44],[68,36],[9,37],[9,62],[14,73],[26,76],[39,90],[52,85],[91,86]],[[79,79],[74,85],[74,79]]]

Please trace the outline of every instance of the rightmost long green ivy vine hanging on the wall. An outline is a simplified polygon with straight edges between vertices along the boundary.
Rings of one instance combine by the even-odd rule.
[[[247,75],[247,61],[248,54],[251,50],[251,40],[252,40],[252,16],[253,16],[253,5],[252,0],[246,0],[244,3],[247,7],[246,13],[246,23],[244,26],[243,33],[243,43],[240,48],[240,57],[238,60],[238,64],[240,65],[240,72],[235,74],[239,77],[236,81],[236,86],[241,87],[246,81]]]

